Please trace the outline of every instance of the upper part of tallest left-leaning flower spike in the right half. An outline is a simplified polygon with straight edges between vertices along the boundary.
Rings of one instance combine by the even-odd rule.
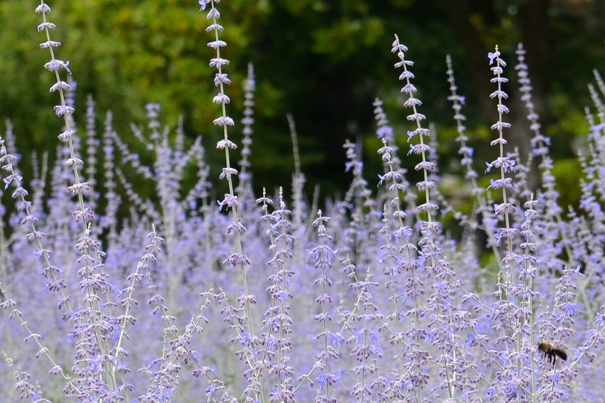
[[[422,105],[422,101],[414,96],[414,93],[417,91],[416,87],[411,83],[411,79],[414,78],[414,74],[408,70],[408,66],[413,66],[414,62],[411,60],[405,59],[405,52],[408,51],[408,48],[399,43],[399,37],[395,35],[395,40],[391,47],[391,52],[397,54],[399,57],[399,62],[395,63],[395,68],[403,67],[404,71],[399,75],[399,80],[404,80],[405,85],[401,88],[401,92],[407,94],[408,98],[404,102],[404,106],[406,108],[412,108],[412,114],[407,116],[407,120],[416,122],[416,129],[413,131],[408,131],[408,142],[415,136],[418,136],[419,144],[410,144],[410,153],[414,153],[416,155],[422,155],[422,162],[416,164],[414,167],[415,170],[422,170],[424,173],[424,180],[420,181],[416,184],[417,189],[420,192],[425,193],[425,202],[420,204],[417,208],[420,212],[425,211],[427,213],[427,221],[433,221],[433,213],[432,211],[437,210],[439,206],[434,203],[431,203],[430,191],[435,189],[436,184],[433,181],[428,180],[428,172],[434,172],[436,170],[435,164],[428,161],[427,153],[430,151],[431,147],[428,144],[425,144],[424,137],[429,137],[430,131],[428,129],[424,129],[422,127],[422,121],[427,117],[420,112],[417,111],[417,106]]]

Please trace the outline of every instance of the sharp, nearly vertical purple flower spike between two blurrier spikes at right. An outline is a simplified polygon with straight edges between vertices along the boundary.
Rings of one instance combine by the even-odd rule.
[[[500,59],[500,51],[498,51],[498,47],[495,47],[494,53],[489,52],[489,65],[493,65],[495,62],[495,66],[491,67],[490,70],[494,74],[494,78],[490,80],[491,83],[497,83],[498,89],[491,94],[489,94],[490,98],[497,98],[498,105],[498,120],[492,124],[491,129],[498,131],[498,138],[493,140],[490,144],[491,146],[499,146],[500,155],[491,163],[487,163],[486,172],[489,172],[492,168],[500,169],[500,179],[496,179],[495,181],[491,181],[490,187],[494,190],[502,189],[502,203],[494,205],[494,214],[498,216],[499,214],[503,214],[505,227],[499,228],[498,233],[496,234],[497,239],[506,238],[506,242],[508,243],[508,252],[503,259],[503,263],[505,265],[513,265],[515,262],[514,255],[512,252],[512,239],[517,237],[518,231],[515,228],[511,228],[509,214],[515,211],[515,206],[509,203],[506,189],[512,190],[512,178],[506,178],[507,172],[513,172],[515,167],[515,160],[510,158],[508,155],[505,156],[504,146],[507,143],[504,135],[503,129],[508,129],[511,127],[510,123],[506,123],[503,121],[503,115],[508,114],[509,109],[503,105],[502,101],[508,98],[508,94],[503,91],[502,84],[508,82],[508,79],[502,77],[504,72],[503,67],[506,66],[506,62]],[[512,269],[512,267],[511,267]],[[511,275],[512,281],[515,282],[515,276]]]

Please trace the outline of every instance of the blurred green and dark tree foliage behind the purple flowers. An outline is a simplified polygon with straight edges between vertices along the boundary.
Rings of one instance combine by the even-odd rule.
[[[97,105],[102,131],[106,110],[114,127],[131,149],[145,149],[132,136],[130,123],[145,123],[145,104],[162,105],[160,119],[175,127],[183,116],[185,132],[193,141],[203,135],[217,178],[223,155],[213,152],[219,138],[211,121],[218,108],[211,103],[216,90],[208,68],[214,50],[206,46],[205,13],[189,0],[54,0],[53,39],[62,42],[57,58],[70,61],[77,82],[76,118],[82,133],[88,94]],[[52,150],[58,144],[62,120],[54,116],[57,95],[48,92],[53,74],[42,67],[48,50],[36,31],[37,3],[0,1],[0,118],[10,118],[24,161],[27,181],[31,152]],[[296,121],[302,170],[307,186],[321,186],[322,195],[342,192],[350,182],[344,172],[342,143],[349,138],[363,146],[365,175],[373,184],[381,162],[374,135],[374,97],[396,129],[404,153],[408,111],[399,94],[399,71],[390,47],[393,34],[409,47],[414,60],[414,84],[424,102],[420,109],[437,127],[440,173],[462,182],[457,164],[456,130],[446,82],[445,56],[451,54],[459,92],[466,96],[470,145],[476,149],[477,168],[492,160],[489,126],[495,120],[495,102],[489,99],[488,51],[498,44],[508,61],[506,77],[513,128],[509,144],[517,145],[525,160],[529,124],[519,100],[514,72],[515,49],[528,51],[534,102],[545,134],[551,137],[557,162],[554,174],[564,190],[561,205],[575,204],[580,175],[574,147],[586,136],[584,106],[590,104],[587,83],[592,69],[605,70],[605,5],[601,0],[225,0],[221,13],[231,60],[226,71],[233,80],[229,115],[239,123],[247,63],[257,77],[255,133],[252,161],[255,191],[266,186],[289,187],[293,170],[292,143],[286,114]],[[231,131],[241,138],[241,124]],[[216,173],[217,175],[214,175]],[[192,178],[193,180],[193,178]],[[139,192],[145,189],[144,182]],[[456,192],[457,185],[451,192]],[[448,190],[444,190],[448,192]],[[221,193],[221,192],[217,192]]]

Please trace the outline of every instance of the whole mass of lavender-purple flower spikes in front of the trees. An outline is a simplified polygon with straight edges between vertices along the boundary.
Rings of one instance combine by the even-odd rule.
[[[0,137],[3,401],[603,401],[594,382],[605,364],[596,350],[605,343],[605,83],[598,72],[589,89],[595,108],[586,110],[588,143],[578,155],[577,210],[559,205],[550,140],[519,45],[515,69],[532,147],[522,155],[505,138],[508,79],[495,48],[486,60],[498,115],[485,173],[497,175],[485,179],[488,189],[446,58],[451,94],[444,97],[476,206],[456,211],[440,192],[436,129],[420,113],[414,63],[398,37],[391,51],[411,127],[407,136],[391,127],[379,98],[368,105],[380,141],[378,179],[367,179],[361,144],[347,140],[349,189],[342,199],[307,204],[289,116],[292,196],[279,187],[255,198],[254,71],[250,65],[240,100],[240,173],[232,164],[238,147],[229,137],[235,120],[227,115],[220,0],[198,4],[212,35],[217,94],[208,103],[220,109],[213,123],[221,129],[223,185],[210,179],[201,138],[189,143],[182,121],[165,127],[158,104],[146,106],[145,124],[132,124],[133,137],[155,157],[151,166],[114,130],[110,111],[97,129],[92,97],[80,121],[70,63],[57,59],[60,42],[51,39],[51,9],[43,0],[36,7],[64,127],[57,158],[34,155],[28,181],[10,122]],[[405,141],[411,175],[399,152]],[[541,173],[535,189],[532,158]],[[196,171],[190,187],[183,185],[187,170]],[[139,195],[132,175],[155,187],[157,199]],[[411,177],[420,178],[415,187]],[[214,187],[227,189],[218,202]],[[459,222],[465,237],[446,233],[445,220]],[[486,254],[491,259],[480,259]],[[540,342],[563,353],[545,359]]]

